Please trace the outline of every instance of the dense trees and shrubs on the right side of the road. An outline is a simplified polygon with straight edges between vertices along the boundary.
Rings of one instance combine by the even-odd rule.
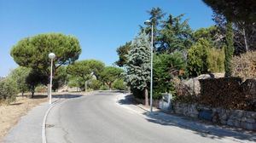
[[[203,2],[212,8],[215,25],[197,30],[190,28],[184,14],[166,14],[160,8],[148,11],[154,29],[154,100],[161,99],[163,93],[172,94],[176,100],[181,99],[178,96],[186,102],[195,100],[195,88],[200,85],[188,87],[184,82],[203,74],[255,80],[255,3]],[[140,26],[137,37],[119,46],[119,60],[115,62],[125,69],[127,85],[135,97],[145,100],[145,105],[150,91],[150,40],[151,26]],[[256,105],[256,101],[250,104]]]

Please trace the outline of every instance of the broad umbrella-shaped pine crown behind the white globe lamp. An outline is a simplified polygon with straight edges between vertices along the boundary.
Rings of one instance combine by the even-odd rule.
[[[11,49],[11,56],[20,66],[49,73],[49,53],[55,53],[54,69],[73,63],[79,59],[81,48],[79,40],[61,33],[39,34],[20,40]]]

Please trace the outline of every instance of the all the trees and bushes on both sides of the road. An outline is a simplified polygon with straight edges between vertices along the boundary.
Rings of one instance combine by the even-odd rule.
[[[215,25],[197,30],[190,28],[185,14],[166,14],[160,8],[148,11],[154,29],[155,100],[161,99],[163,93],[176,98],[185,93],[180,91],[185,90],[183,81],[202,74],[224,73],[224,77],[255,79],[256,18],[250,9],[255,3],[203,2],[212,8]],[[79,60],[82,49],[74,36],[44,33],[25,37],[11,49],[10,55],[19,67],[0,79],[0,100],[10,103],[18,93],[30,92],[29,97],[33,98],[36,91],[47,92],[48,54],[53,52],[55,91],[66,91],[64,87],[78,91],[131,89],[148,105],[151,35],[151,26],[139,26],[137,36],[117,49],[116,66],[106,66],[100,60]]]

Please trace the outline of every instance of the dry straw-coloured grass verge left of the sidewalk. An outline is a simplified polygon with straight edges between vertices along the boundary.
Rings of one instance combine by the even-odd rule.
[[[35,95],[34,99],[26,97],[17,97],[17,100],[9,105],[2,103],[0,105],[0,142],[13,126],[20,120],[20,117],[26,115],[32,107],[47,101],[45,95]]]

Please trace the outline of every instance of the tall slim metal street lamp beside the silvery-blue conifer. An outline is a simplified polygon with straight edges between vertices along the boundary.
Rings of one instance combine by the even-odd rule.
[[[150,112],[152,112],[152,94],[153,94],[153,23],[151,20],[146,20],[145,25],[151,26],[151,58],[150,58]]]

